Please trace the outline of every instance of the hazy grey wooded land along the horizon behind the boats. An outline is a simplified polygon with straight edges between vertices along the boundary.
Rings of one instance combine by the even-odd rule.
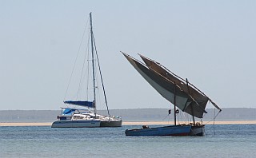
[[[110,114],[121,116],[123,121],[167,121],[173,120],[173,109],[111,109]],[[203,120],[212,120],[216,109],[206,109],[208,113]],[[107,115],[106,110],[98,113]],[[0,110],[0,122],[51,122],[57,120],[58,110]],[[178,119],[190,119],[185,113],[178,113]],[[226,108],[218,114],[216,120],[256,120],[256,109],[253,108]]]

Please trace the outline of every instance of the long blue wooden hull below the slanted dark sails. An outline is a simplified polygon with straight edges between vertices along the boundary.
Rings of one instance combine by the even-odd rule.
[[[126,129],[126,136],[187,136],[191,125],[172,125],[158,128]]]

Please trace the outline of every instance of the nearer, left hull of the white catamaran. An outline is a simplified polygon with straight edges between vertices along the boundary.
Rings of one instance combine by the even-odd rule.
[[[56,120],[52,128],[98,128],[100,120]]]

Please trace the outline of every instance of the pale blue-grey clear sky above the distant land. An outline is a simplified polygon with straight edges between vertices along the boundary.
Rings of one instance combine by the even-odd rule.
[[[256,108],[255,8],[253,0],[0,0],[0,110],[63,106],[90,12],[110,109],[170,107],[120,51],[160,62],[221,108]]]

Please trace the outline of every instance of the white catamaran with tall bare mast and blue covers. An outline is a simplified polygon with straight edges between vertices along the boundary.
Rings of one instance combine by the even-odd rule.
[[[57,117],[58,120],[54,121],[52,128],[89,128],[89,127],[121,127],[121,117],[110,116],[106,101],[106,93],[102,80],[102,73],[98,62],[98,53],[94,40],[94,33],[92,27],[92,15],[90,13],[90,45],[91,45],[91,59],[87,61],[92,64],[92,81],[93,81],[93,101],[64,101],[66,105],[74,105],[78,108],[62,108],[62,113]],[[85,60],[86,61],[86,60]],[[98,64],[98,65],[96,65]],[[83,64],[84,65],[84,64]],[[107,116],[102,116],[97,113],[96,105],[96,90],[100,85],[96,85],[96,67],[98,66],[99,76],[102,83],[102,92],[104,94]],[[73,73],[73,72],[72,72]],[[89,75],[88,75],[89,76]],[[83,107],[83,108],[81,108]],[[84,109],[84,108],[87,109]],[[93,109],[93,110],[91,110]]]

